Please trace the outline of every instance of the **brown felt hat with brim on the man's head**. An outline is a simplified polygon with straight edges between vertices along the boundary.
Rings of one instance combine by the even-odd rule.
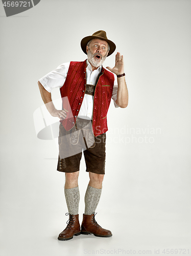
[[[91,39],[94,39],[94,38],[99,38],[99,39],[101,39],[101,40],[104,40],[104,41],[108,42],[109,47],[110,47],[110,50],[109,50],[107,56],[111,55],[111,54],[115,51],[116,46],[115,46],[114,42],[112,42],[111,40],[107,39],[107,36],[106,36],[106,32],[105,32],[105,31],[99,30],[99,31],[93,33],[93,34],[90,35],[90,36],[84,37],[84,38],[81,40],[81,48],[82,48],[82,51],[83,51],[85,54],[87,54],[87,52],[86,52],[86,46],[87,46],[88,41],[90,41]]]

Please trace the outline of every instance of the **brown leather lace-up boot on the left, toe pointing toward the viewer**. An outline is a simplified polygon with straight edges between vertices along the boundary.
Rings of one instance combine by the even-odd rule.
[[[58,240],[70,240],[73,239],[73,236],[79,236],[81,234],[79,215],[71,215],[67,213],[66,215],[69,215],[69,220],[66,222],[66,228],[59,234]]]

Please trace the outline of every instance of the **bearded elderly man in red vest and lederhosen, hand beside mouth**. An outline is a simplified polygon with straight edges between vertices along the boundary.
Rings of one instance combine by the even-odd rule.
[[[38,81],[47,110],[61,122],[57,170],[65,172],[64,193],[69,220],[59,240],[90,233],[97,237],[112,236],[110,230],[102,228],[95,220],[105,174],[107,112],[111,98],[115,107],[128,105],[123,56],[117,52],[113,69],[107,67],[108,71],[102,67],[106,57],[116,48],[106,32],[100,30],[84,37],[81,48],[87,54],[85,61],[63,63]],[[51,99],[51,91],[56,87],[60,88],[62,110],[55,109]],[[82,151],[90,180],[80,227],[78,176]]]

